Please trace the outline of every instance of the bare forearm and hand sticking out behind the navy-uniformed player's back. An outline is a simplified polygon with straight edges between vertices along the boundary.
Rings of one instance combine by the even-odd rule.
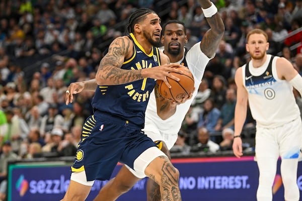
[[[80,93],[83,90],[86,91],[95,91],[98,84],[96,79],[90,79],[82,82],[72,82],[69,84],[66,95],[65,95],[65,104],[68,105],[72,103],[73,94]]]

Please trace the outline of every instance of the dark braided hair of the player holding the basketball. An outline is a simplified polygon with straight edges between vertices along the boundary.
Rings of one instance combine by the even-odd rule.
[[[137,9],[136,11],[134,11],[128,19],[126,32],[133,33],[134,25],[146,19],[146,15],[150,13],[157,14],[155,11],[151,9]]]

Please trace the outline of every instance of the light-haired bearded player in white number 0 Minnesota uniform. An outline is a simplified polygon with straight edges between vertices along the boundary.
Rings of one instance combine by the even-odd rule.
[[[246,119],[247,102],[256,120],[256,160],[259,168],[258,201],[272,200],[272,185],[280,156],[281,175],[286,201],[298,201],[298,155],[302,123],[292,87],[302,94],[302,77],[283,57],[266,54],[267,35],[254,29],[247,35],[246,50],[252,60],[238,68],[237,104],[233,151],[241,157],[240,134]]]

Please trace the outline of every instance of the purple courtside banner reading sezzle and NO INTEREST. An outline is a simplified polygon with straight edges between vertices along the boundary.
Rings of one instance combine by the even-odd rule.
[[[49,163],[49,162],[48,162]],[[51,164],[51,165],[50,165]],[[180,171],[182,200],[256,200],[258,168],[252,156],[174,159]],[[8,200],[60,200],[68,187],[71,164],[22,163],[9,166]],[[280,161],[273,185],[273,200],[284,200]],[[112,176],[116,175],[118,165]],[[146,200],[146,181],[138,181],[117,200]],[[108,181],[96,180],[87,200],[93,200]],[[302,190],[302,165],[298,166],[297,183]],[[302,194],[302,193],[301,193]],[[133,199],[134,198],[134,199]]]

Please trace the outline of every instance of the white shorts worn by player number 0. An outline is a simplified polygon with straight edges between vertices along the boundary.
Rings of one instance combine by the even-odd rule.
[[[257,158],[298,158],[302,141],[302,122],[298,118],[276,128],[256,127]]]

